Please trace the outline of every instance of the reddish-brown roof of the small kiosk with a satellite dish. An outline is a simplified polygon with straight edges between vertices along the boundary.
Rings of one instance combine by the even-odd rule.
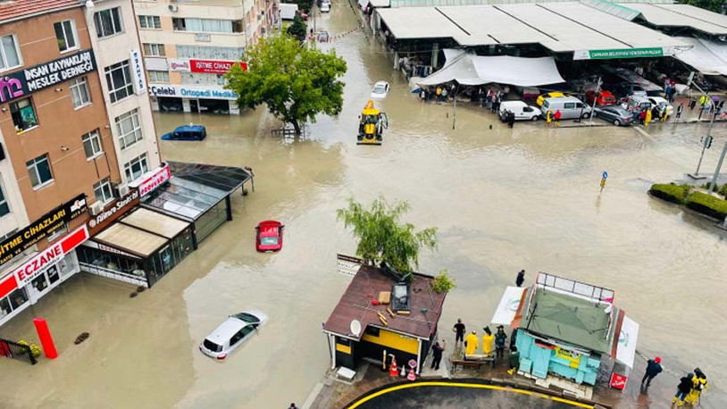
[[[431,289],[431,281],[431,276],[414,273],[410,292],[411,315],[391,317],[386,312],[386,308],[391,305],[372,305],[371,302],[372,299],[379,297],[380,291],[391,291],[395,281],[376,267],[363,266],[351,280],[333,313],[330,313],[323,330],[358,340],[369,324],[387,328],[379,321],[377,313],[380,312],[389,320],[389,330],[419,338],[430,338],[437,328],[442,305],[447,296],[446,293],[437,294]],[[422,308],[426,308],[427,313],[422,313]],[[358,337],[350,333],[352,320],[361,321],[362,331]]]

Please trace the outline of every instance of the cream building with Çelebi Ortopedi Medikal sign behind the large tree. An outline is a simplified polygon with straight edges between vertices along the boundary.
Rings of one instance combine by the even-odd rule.
[[[152,108],[239,113],[223,74],[277,23],[275,0],[134,0]]]

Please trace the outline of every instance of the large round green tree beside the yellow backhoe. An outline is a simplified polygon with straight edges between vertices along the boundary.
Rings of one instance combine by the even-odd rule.
[[[277,35],[263,38],[247,51],[249,71],[238,65],[227,74],[226,88],[238,93],[238,105],[255,108],[267,104],[270,112],[293,125],[315,122],[315,115],[336,115],[343,107],[346,61],[334,51],[323,53],[300,46],[296,38]]]

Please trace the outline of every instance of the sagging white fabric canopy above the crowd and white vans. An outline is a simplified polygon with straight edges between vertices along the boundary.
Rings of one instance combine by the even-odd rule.
[[[524,58],[509,55],[481,56],[456,54],[445,50],[447,62],[441,70],[417,82],[430,86],[456,81],[461,85],[482,85],[491,82],[516,87],[538,87],[564,82],[553,57]],[[453,59],[449,59],[455,55]]]

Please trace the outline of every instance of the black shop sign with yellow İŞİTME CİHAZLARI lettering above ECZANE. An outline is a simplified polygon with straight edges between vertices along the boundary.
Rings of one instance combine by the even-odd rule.
[[[0,243],[0,265],[13,260],[13,257],[20,255],[84,212],[86,212],[86,194],[82,193],[30,223],[28,227]]]

